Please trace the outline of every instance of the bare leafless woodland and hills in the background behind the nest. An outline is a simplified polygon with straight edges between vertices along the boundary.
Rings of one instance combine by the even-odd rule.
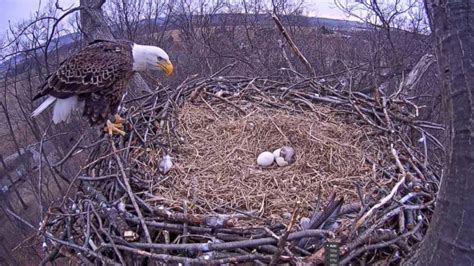
[[[68,176],[85,160],[79,155],[56,165],[61,171],[45,167],[54,166],[82,136],[92,140],[94,132],[80,118],[50,127],[48,115],[32,120],[30,113],[38,104],[31,98],[40,82],[92,39],[128,39],[160,46],[170,54],[174,76],[158,80],[145,73],[135,79],[129,97],[160,86],[176,87],[189,76],[209,76],[235,63],[232,73],[236,76],[275,77],[296,72],[324,80],[337,75],[338,89],[371,96],[379,90],[390,94],[394,88],[402,88],[406,97],[424,106],[424,120],[445,122],[447,117],[441,112],[443,82],[433,64],[435,42],[425,7],[420,1],[392,2],[349,5],[336,1],[353,16],[364,10],[358,22],[304,17],[304,2],[297,0],[82,0],[72,9],[50,2],[0,39],[2,211],[15,210],[38,224],[43,218],[40,210],[64,192]],[[280,17],[312,70],[292,52],[272,13]],[[410,80],[409,74],[419,62],[416,70],[421,73]],[[45,132],[48,141],[41,141]],[[443,132],[433,134],[445,139]],[[31,254],[40,260],[37,247],[9,252],[27,237],[25,227],[9,215],[0,220],[6,223],[0,239],[2,258],[21,262],[18,257]]]

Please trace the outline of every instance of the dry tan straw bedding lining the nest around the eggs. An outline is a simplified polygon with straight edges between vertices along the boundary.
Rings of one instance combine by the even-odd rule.
[[[249,106],[241,114],[226,104],[199,102],[184,104],[178,113],[184,143],[171,154],[174,169],[154,187],[160,203],[181,206],[184,199],[196,214],[241,211],[288,222],[297,201],[308,215],[319,188],[323,198],[336,192],[352,201],[354,182],[372,186],[366,158],[377,158],[380,144],[368,135],[370,126],[349,122],[332,108],[291,112]],[[283,145],[296,150],[294,164],[256,164],[259,153]],[[158,161],[161,154],[156,155]],[[145,169],[158,173],[157,167]]]

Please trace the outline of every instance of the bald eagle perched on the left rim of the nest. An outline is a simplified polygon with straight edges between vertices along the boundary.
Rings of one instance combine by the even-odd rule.
[[[106,123],[109,134],[125,135],[118,106],[134,72],[148,69],[162,70],[169,76],[173,65],[168,54],[156,46],[96,40],[64,60],[46,78],[33,100],[48,97],[32,117],[54,103],[53,122],[58,124],[83,105],[83,115],[91,125]],[[115,123],[108,119],[109,115],[115,115]]]

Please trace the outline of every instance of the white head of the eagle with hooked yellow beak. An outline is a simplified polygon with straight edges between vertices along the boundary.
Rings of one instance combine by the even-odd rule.
[[[133,70],[163,70],[167,76],[173,73],[170,57],[160,47],[134,43],[132,46]]]

